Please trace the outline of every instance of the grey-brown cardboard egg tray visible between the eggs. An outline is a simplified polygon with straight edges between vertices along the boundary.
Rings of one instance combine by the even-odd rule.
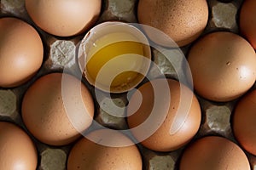
[[[217,1],[207,0],[209,7],[209,19],[207,27],[202,35],[211,31],[232,31],[239,34],[238,28],[238,15],[243,0],[233,1]],[[137,22],[137,0],[103,0],[102,13],[98,23],[108,20],[121,20],[125,22],[136,23]],[[27,23],[34,26],[44,42],[44,64],[38,71],[38,74],[32,78],[26,84],[17,88],[0,88],[0,120],[15,122],[20,127],[24,126],[20,111],[22,97],[26,92],[26,89],[32,85],[32,82],[45,74],[56,71],[63,71],[64,66],[68,67],[68,71],[72,74],[79,74],[79,65],[76,60],[76,54],[78,52],[78,46],[83,35],[75,37],[54,37],[48,33],[42,31],[35,26],[32,20],[26,13],[24,0],[1,0],[0,17],[15,16],[21,20],[25,20]],[[191,44],[181,48],[183,54],[187,54]],[[172,53],[177,49],[166,49]],[[179,65],[178,69],[182,71],[182,65],[184,60],[176,60],[175,63],[171,63],[166,59],[166,56],[160,54],[153,49],[154,63],[160,67],[160,71],[166,74],[166,77],[177,78],[177,71],[173,69],[172,65]],[[183,72],[183,71],[182,71]],[[154,77],[154,70],[148,72],[149,77]],[[90,91],[94,92],[94,88],[91,87],[86,81],[83,81]],[[253,85],[253,89],[255,84]],[[232,117],[232,111],[236,105],[238,99],[217,103],[207,99],[202,99],[197,96],[202,111],[201,127],[195,138],[199,139],[206,135],[219,135],[224,136],[231,141],[236,142],[233,136],[230,120]],[[113,95],[113,101],[119,107],[124,107],[127,104],[125,94]],[[108,107],[109,98],[102,93],[101,97],[96,103],[96,122],[101,123],[106,127],[112,127],[116,129],[126,128],[125,118],[114,117],[108,114],[111,111],[111,106]],[[102,105],[107,105],[108,111],[102,109]],[[102,106],[102,107],[101,107]],[[62,170],[67,169],[67,156],[69,150],[73,144],[55,147],[47,144],[40,143],[37,139],[34,139],[38,148],[38,170]],[[174,150],[171,152],[156,152],[144,148],[141,144],[137,144],[143,156],[143,169],[144,170],[170,170],[178,169],[178,161],[183,152],[183,148]],[[245,150],[244,150],[245,151]],[[256,156],[253,156],[245,151],[247,157],[251,163],[252,169],[256,169]]]

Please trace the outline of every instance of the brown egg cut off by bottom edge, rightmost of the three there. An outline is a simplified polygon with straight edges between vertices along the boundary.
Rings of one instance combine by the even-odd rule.
[[[247,156],[229,139],[208,136],[196,140],[183,152],[180,170],[250,170]]]

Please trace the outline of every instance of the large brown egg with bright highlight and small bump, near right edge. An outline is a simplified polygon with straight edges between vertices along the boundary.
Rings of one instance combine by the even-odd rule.
[[[206,99],[229,101],[255,82],[256,56],[242,37],[218,31],[202,37],[189,51],[195,91]]]

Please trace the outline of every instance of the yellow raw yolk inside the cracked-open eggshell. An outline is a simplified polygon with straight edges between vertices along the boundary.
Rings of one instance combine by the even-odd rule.
[[[111,42],[113,37],[119,37],[119,41]],[[131,83],[137,79],[141,80],[143,75],[136,70],[143,67],[141,56],[144,54],[144,45],[141,42],[132,41],[134,38],[127,33],[117,33],[98,39],[88,54],[87,75],[94,82],[100,82],[104,86],[109,86],[110,89],[129,88]],[[100,78],[99,74],[101,74]]]

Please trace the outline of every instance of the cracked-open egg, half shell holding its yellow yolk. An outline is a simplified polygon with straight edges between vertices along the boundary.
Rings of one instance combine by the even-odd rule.
[[[148,39],[136,27],[121,22],[94,27],[79,50],[84,77],[106,92],[122,93],[136,87],[151,63]]]

